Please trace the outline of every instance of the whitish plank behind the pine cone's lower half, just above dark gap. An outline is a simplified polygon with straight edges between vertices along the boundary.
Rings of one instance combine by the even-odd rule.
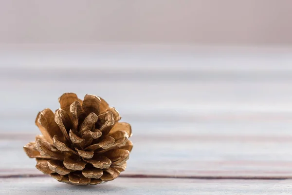
[[[40,174],[22,146],[34,135],[0,139],[0,175]],[[292,177],[292,138],[137,135],[126,175]]]

